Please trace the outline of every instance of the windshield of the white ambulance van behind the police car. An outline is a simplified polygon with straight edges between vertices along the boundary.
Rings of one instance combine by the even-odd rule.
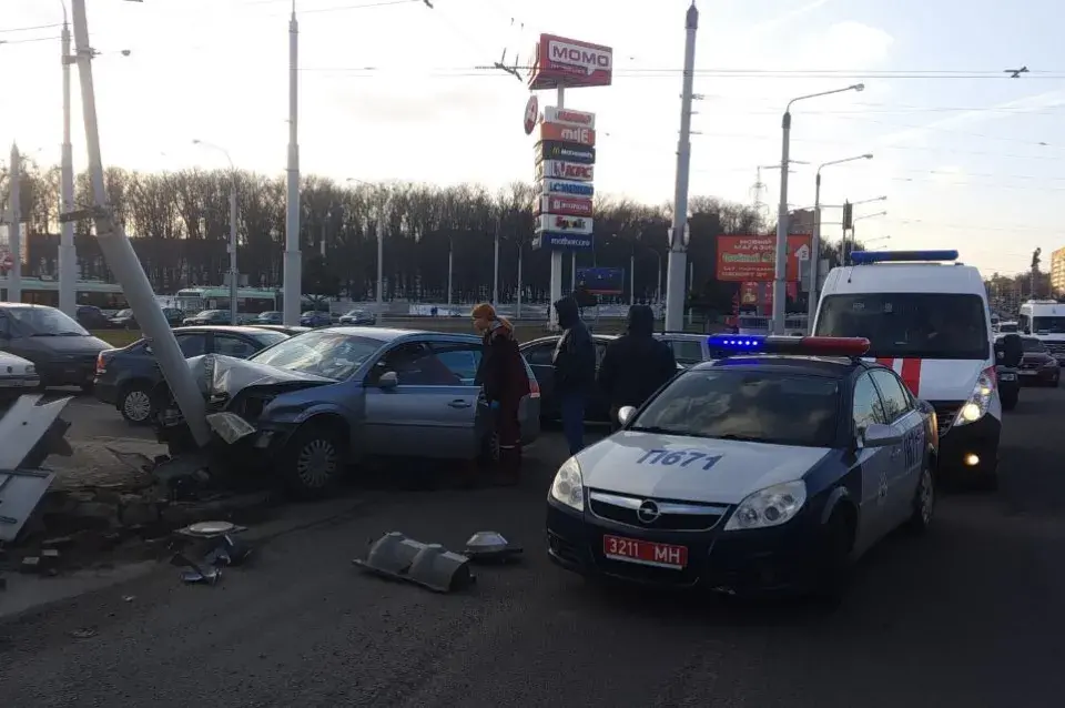
[[[829,295],[821,301],[816,334],[865,337],[870,356],[985,360],[986,316],[978,295]]]

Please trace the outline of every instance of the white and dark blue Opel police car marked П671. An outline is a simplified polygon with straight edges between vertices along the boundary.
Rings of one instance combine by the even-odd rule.
[[[897,526],[932,520],[935,416],[863,338],[714,335],[547,499],[561,567],[731,593],[840,587]]]

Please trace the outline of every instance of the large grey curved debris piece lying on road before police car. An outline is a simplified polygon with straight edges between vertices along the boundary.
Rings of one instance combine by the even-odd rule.
[[[399,532],[385,534],[369,546],[366,558],[355,565],[395,580],[407,580],[437,593],[464,589],[476,581],[469,558],[439,544],[424,544]]]

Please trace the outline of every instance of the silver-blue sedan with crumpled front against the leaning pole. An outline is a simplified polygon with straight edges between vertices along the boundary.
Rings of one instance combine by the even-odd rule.
[[[474,380],[474,335],[332,327],[248,360],[189,360],[207,397],[209,423],[247,468],[280,474],[304,496],[328,493],[346,467],[371,457],[477,461],[494,454],[493,414]],[[523,443],[539,435],[539,393],[520,407]],[[168,396],[169,397],[169,396]],[[171,401],[156,428],[181,426]]]

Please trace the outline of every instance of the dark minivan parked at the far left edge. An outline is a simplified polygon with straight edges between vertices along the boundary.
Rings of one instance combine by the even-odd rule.
[[[91,391],[97,355],[110,346],[55,307],[0,303],[0,351],[31,362],[42,387]]]

